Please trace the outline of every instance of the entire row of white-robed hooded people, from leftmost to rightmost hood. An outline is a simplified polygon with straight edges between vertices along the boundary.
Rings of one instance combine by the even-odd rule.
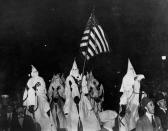
[[[65,80],[59,75],[53,77],[48,93],[43,78],[32,66],[31,78],[23,96],[24,106],[27,107],[26,114],[39,123],[42,131],[112,131],[116,120],[118,130],[135,130],[140,120],[138,109],[142,79],[144,75],[137,75],[128,60],[127,73],[120,89],[123,95],[120,98],[118,115],[112,110],[102,110],[103,86],[92,73],[81,76],[75,61]],[[161,126],[158,129],[162,129]],[[140,131],[139,128],[137,130]]]

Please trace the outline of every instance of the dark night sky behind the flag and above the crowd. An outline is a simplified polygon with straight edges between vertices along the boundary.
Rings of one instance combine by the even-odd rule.
[[[129,57],[137,73],[153,78],[168,54],[166,0],[3,0],[0,1],[0,89],[21,89],[29,65],[48,80],[69,73],[93,5],[109,39],[111,54],[88,63],[107,88],[126,72]],[[45,47],[45,44],[47,45]],[[158,73],[159,72],[159,73]],[[118,78],[119,77],[119,78]],[[11,90],[13,89],[13,90]]]

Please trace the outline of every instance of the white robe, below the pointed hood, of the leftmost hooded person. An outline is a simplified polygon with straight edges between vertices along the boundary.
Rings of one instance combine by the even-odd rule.
[[[36,92],[33,92],[33,87],[37,82],[39,82],[40,85],[37,87]],[[28,98],[24,104],[28,104],[27,106],[35,105],[35,108],[38,107],[38,109],[35,111],[35,122],[40,124],[41,131],[56,131],[56,126],[54,124],[51,111],[50,117],[47,114],[47,112],[50,110],[50,106],[49,102],[47,101],[46,86],[43,78],[39,76],[30,78],[28,80],[27,86],[29,88],[27,91]],[[25,94],[26,91],[24,93],[24,97]],[[30,101],[32,101],[33,104],[31,104]],[[27,111],[27,114],[29,115],[30,113]]]

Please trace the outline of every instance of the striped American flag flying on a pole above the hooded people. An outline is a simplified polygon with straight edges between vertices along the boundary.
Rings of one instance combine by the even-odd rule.
[[[106,40],[104,31],[98,24],[93,12],[89,17],[84,30],[80,43],[80,49],[87,60],[95,55],[110,52],[110,47]]]

